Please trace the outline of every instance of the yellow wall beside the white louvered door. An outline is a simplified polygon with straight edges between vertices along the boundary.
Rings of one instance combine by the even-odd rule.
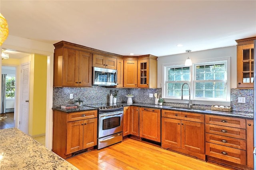
[[[46,125],[46,81],[47,81],[47,56],[34,55],[34,83],[32,96],[32,133],[31,136],[45,133]]]

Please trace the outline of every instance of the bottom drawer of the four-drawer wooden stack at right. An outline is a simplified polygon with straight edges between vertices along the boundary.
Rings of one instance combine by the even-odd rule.
[[[246,165],[246,151],[206,142],[206,155]]]

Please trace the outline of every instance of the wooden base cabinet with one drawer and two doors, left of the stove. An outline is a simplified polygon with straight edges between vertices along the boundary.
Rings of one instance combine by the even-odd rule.
[[[52,151],[62,158],[97,145],[97,110],[53,111]],[[86,151],[85,150],[85,151]]]

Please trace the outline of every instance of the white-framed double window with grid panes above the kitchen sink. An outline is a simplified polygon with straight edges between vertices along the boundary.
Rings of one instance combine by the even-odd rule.
[[[188,83],[191,99],[201,101],[197,104],[202,104],[202,101],[230,102],[229,65],[230,57],[198,61],[190,67],[165,64],[163,98],[180,102],[182,84]],[[183,95],[188,99],[187,85],[183,87]]]

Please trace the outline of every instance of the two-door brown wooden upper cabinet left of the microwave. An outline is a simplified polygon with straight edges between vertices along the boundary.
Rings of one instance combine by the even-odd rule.
[[[55,49],[54,86],[92,86],[92,53]]]

